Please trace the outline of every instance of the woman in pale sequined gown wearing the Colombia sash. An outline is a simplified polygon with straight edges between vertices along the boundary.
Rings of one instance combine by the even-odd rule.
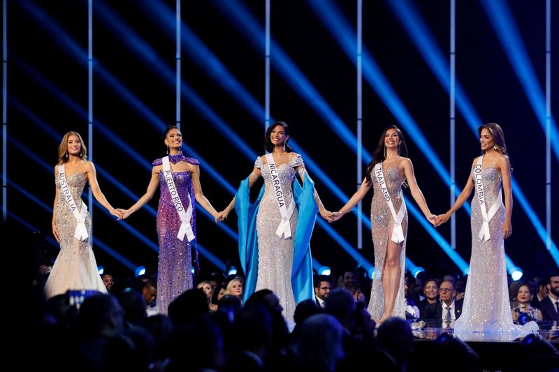
[[[478,132],[483,155],[474,159],[467,184],[454,205],[439,216],[440,223],[448,221],[475,188],[470,274],[454,332],[465,340],[510,341],[522,331],[512,322],[504,255],[504,239],[512,234],[511,167],[501,127],[489,123]]]

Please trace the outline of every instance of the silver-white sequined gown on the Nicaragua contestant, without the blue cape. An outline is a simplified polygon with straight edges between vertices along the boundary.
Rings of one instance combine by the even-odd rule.
[[[277,167],[279,182],[282,185],[286,207],[292,202],[293,189],[291,183],[295,177],[295,170],[303,165],[303,158],[295,156],[289,163]],[[293,211],[289,225],[291,226],[291,238],[283,239],[276,235],[282,216],[275,200],[275,189],[272,186],[272,176],[268,164],[263,165],[261,158],[254,163],[255,168],[261,169],[264,179],[265,191],[260,202],[256,216],[256,235],[258,237],[258,278],[256,279],[256,290],[268,288],[273,290],[279,298],[279,304],[284,308],[284,317],[288,322],[293,322],[295,312],[295,297],[291,288],[291,267],[293,266],[293,243],[295,240],[295,228],[298,210]]]

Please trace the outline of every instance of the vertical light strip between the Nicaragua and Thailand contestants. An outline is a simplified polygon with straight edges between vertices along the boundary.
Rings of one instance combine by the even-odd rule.
[[[361,137],[363,136],[363,70],[362,70],[362,47],[363,47],[363,0],[357,0],[357,189],[361,187],[363,179],[363,151],[361,148]],[[363,221],[361,221],[361,210],[363,203],[357,204],[357,248],[363,248]]]

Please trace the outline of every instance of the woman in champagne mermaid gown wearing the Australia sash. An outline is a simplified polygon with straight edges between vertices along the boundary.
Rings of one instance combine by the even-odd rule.
[[[91,237],[91,219],[89,211],[85,218],[85,227],[88,238],[79,240],[74,237],[78,224],[70,210],[66,198],[61,193],[59,180],[59,165],[64,164],[68,191],[70,191],[75,205],[81,211],[85,204],[82,202],[82,191],[89,181],[93,195],[110,214],[121,216],[119,211],[112,208],[97,184],[95,167],[87,161],[87,149],[82,137],[77,132],[68,132],[62,138],[59,149],[59,162],[55,166],[56,197],[52,213],[52,233],[60,244],[55,265],[45,283],[45,296],[47,298],[64,294],[67,290],[98,290],[106,293],[107,290],[97,271],[97,263],[89,245]]]

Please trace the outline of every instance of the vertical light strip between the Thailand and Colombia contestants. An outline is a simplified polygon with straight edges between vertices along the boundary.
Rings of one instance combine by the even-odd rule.
[[[450,206],[456,200],[456,0],[450,0]],[[456,214],[450,219],[451,247],[456,249]]]

